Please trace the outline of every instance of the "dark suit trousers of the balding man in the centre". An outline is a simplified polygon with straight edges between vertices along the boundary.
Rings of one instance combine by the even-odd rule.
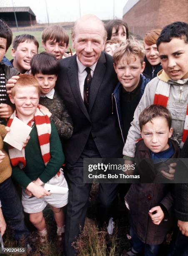
[[[82,231],[88,208],[88,197],[92,184],[83,183],[83,159],[101,158],[93,140],[89,140],[78,161],[66,165],[69,184],[68,207],[65,225],[65,255],[76,255],[72,243]],[[100,223],[108,222],[110,207],[118,193],[118,184],[100,184],[99,209]]]

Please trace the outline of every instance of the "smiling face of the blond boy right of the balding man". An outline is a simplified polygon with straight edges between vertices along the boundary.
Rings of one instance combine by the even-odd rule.
[[[140,58],[133,55],[128,58],[121,58],[116,65],[114,64],[118,80],[127,92],[132,92],[138,86],[140,74],[143,72],[144,67],[145,62],[141,64]]]

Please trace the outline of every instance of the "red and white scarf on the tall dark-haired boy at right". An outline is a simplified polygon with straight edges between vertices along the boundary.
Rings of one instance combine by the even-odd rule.
[[[159,104],[166,108],[169,94],[170,94],[170,84],[159,81],[156,92],[155,92],[153,104]],[[183,147],[183,144],[187,136],[188,136],[188,105],[187,105],[187,112],[186,112],[185,124],[183,129],[183,137],[180,143],[180,148]]]

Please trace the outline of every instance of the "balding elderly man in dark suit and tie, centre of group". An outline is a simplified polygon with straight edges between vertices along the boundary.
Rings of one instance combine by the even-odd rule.
[[[123,139],[113,114],[112,93],[118,80],[113,58],[104,53],[107,33],[103,22],[85,15],[72,32],[76,54],[60,61],[56,88],[73,118],[73,136],[64,142],[69,203],[65,225],[65,254],[83,228],[91,184],[83,183],[84,158],[120,158]],[[108,222],[118,184],[100,184],[100,222]]]

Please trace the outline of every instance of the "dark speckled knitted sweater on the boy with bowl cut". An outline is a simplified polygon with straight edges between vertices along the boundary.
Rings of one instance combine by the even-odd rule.
[[[40,97],[39,104],[48,108],[52,113],[50,120],[55,124],[60,138],[70,138],[73,133],[73,121],[58,93],[54,93],[53,99]]]

